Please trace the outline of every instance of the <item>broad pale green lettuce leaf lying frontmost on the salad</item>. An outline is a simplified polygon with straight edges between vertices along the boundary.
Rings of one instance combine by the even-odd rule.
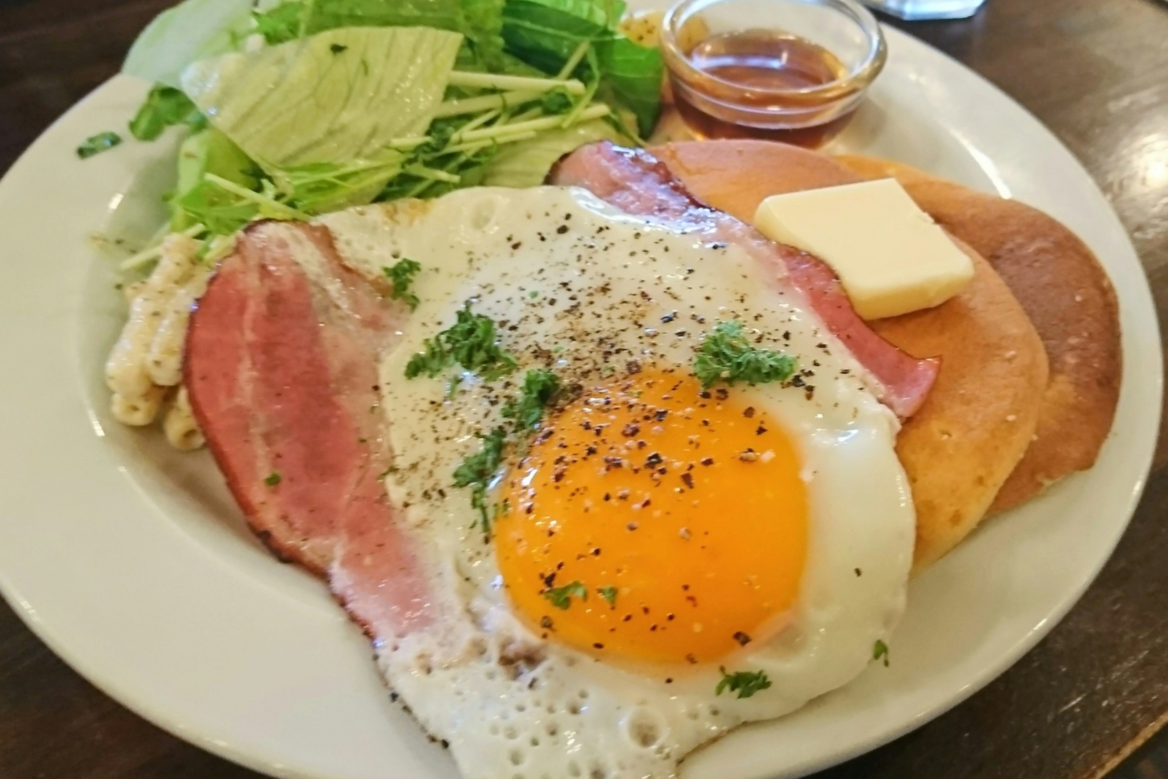
[[[348,165],[425,133],[461,41],[425,27],[342,28],[196,62],[182,85],[269,172]]]

